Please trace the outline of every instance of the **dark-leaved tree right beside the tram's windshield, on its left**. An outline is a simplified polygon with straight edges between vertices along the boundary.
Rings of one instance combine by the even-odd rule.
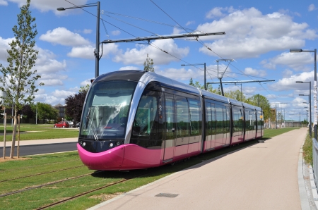
[[[81,121],[81,114],[84,106],[84,101],[87,91],[83,90],[78,94],[73,94],[65,99],[66,116],[73,118],[74,121]]]

